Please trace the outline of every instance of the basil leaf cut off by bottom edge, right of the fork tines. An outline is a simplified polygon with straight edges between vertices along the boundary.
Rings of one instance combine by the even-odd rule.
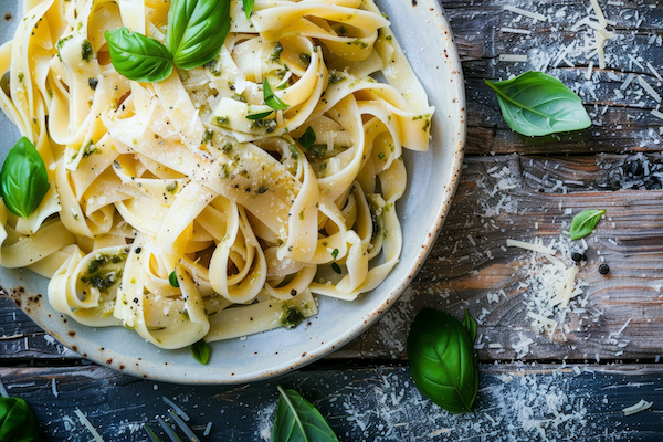
[[[325,418],[295,390],[281,392],[276,418],[272,428],[272,442],[338,442]]]

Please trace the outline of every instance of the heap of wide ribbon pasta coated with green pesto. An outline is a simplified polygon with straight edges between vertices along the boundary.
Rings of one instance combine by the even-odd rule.
[[[294,327],[398,263],[401,152],[434,108],[372,1],[231,1],[219,54],[158,83],[117,73],[104,32],[164,42],[168,2],[24,8],[0,105],[51,189],[29,219],[0,203],[0,263],[49,277],[55,309],[181,348]]]

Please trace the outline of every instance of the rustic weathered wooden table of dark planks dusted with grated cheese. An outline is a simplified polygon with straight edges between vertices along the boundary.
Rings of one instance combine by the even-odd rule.
[[[297,372],[190,387],[88,362],[0,297],[0,378],[10,394],[28,400],[49,440],[91,439],[75,408],[106,441],[147,440],[139,425],[166,411],[164,396],[191,415],[199,434],[213,422],[208,440],[266,440],[278,383],[315,402],[343,441],[663,440],[663,120],[638,80],[663,94],[654,74],[663,73],[663,4],[600,0],[618,39],[607,43],[608,67],[589,76],[580,50],[587,27],[572,30],[589,1],[442,3],[465,73],[466,158],[444,229],[399,303],[352,343]],[[501,54],[528,61],[502,62]],[[533,139],[505,125],[484,78],[546,66],[580,94],[590,128]],[[624,85],[630,73],[636,76]],[[586,303],[551,337],[535,335],[526,303],[536,264],[532,253],[505,248],[506,239],[567,246],[572,213],[590,208],[608,212],[587,239],[579,274]],[[608,275],[598,272],[602,261]],[[413,387],[406,337],[424,306],[456,317],[469,308],[480,318],[482,377],[472,414],[441,411]],[[652,408],[625,417],[622,409],[641,399]]]

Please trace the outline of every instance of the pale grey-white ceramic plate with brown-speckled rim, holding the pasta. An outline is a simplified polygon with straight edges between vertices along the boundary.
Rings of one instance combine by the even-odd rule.
[[[0,2],[0,42],[10,40],[21,20],[21,0]],[[413,3],[417,3],[415,6]],[[453,36],[438,0],[378,0],[414,72],[436,107],[427,152],[406,150],[408,190],[399,201],[403,251],[393,272],[375,291],[347,303],[320,298],[319,313],[294,330],[283,328],[213,343],[202,366],[189,349],[161,350],[122,327],[90,328],[56,313],[46,301],[48,280],[28,270],[0,269],[0,285],[46,333],[82,356],[138,377],[178,383],[236,383],[284,373],[322,358],[357,337],[398,298],[423,264],[449,212],[465,141],[464,83]],[[0,19],[1,20],[1,19]],[[0,113],[2,159],[19,139]],[[22,288],[21,292],[19,288]],[[43,294],[36,302],[35,294]]]

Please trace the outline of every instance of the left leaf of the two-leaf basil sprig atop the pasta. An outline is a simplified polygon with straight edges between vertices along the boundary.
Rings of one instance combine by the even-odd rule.
[[[115,70],[135,82],[160,82],[172,72],[172,55],[166,46],[131,32],[128,28],[106,31],[110,61]]]

